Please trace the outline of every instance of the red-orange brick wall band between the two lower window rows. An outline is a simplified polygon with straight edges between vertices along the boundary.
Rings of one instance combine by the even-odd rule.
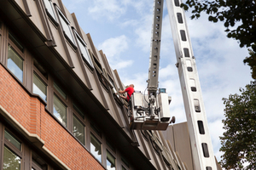
[[[38,134],[44,146],[67,167],[76,170],[104,169],[55,119],[44,104],[30,96],[0,65],[0,105],[30,133]]]

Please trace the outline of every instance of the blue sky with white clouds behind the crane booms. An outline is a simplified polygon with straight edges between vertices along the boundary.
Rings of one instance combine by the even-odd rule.
[[[108,63],[125,85],[133,83],[135,90],[147,88],[150,39],[154,0],[62,0],[74,13],[85,33],[98,50],[106,54]],[[239,88],[252,81],[249,66],[243,64],[247,48],[226,37],[224,23],[212,23],[207,15],[190,20],[186,12],[189,36],[207,114],[214,155],[220,161],[223,153],[219,136],[223,136],[223,98],[240,94]],[[182,91],[177,72],[176,54],[166,2],[164,3],[160,48],[159,88],[172,96],[171,116],[176,123],[186,122]]]

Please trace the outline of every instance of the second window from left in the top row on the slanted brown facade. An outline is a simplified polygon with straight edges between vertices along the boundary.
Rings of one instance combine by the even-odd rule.
[[[60,9],[58,11],[59,11],[59,14],[60,14],[62,31],[64,32],[64,35],[67,38],[67,41],[71,42],[71,44],[74,45],[73,35],[72,35],[71,28],[69,26],[69,21],[67,20],[65,15],[61,13]]]

